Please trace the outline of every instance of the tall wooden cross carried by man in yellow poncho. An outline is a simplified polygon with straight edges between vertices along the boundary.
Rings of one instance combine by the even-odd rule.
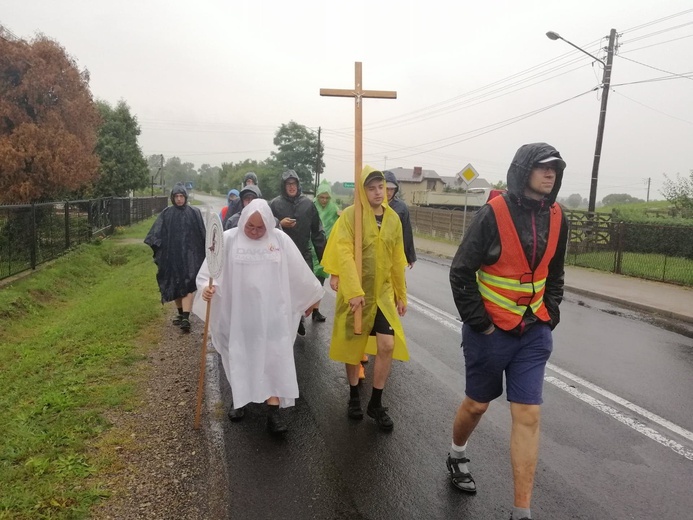
[[[363,98],[397,99],[397,92],[392,90],[363,90],[361,80],[361,62],[355,65],[354,89],[321,88],[321,96],[353,97],[355,106],[354,120],[354,261],[359,281],[363,274],[362,244],[363,244],[363,214],[361,213],[361,198],[358,185],[361,182],[363,169],[363,113],[361,100]],[[354,334],[361,334],[361,309],[354,313]]]

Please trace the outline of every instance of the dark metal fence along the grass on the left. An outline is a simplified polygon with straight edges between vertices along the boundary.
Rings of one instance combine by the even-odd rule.
[[[167,204],[160,196],[0,206],[0,280],[156,215]]]

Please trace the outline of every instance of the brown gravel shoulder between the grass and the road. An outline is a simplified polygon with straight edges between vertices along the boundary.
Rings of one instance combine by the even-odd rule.
[[[193,428],[202,333],[199,319],[184,334],[167,318],[154,338],[157,346],[133,366],[141,403],[109,416],[113,429],[101,449],[113,453],[106,475],[113,494],[93,509],[92,518],[226,517],[222,471],[210,460],[205,421],[200,430]]]

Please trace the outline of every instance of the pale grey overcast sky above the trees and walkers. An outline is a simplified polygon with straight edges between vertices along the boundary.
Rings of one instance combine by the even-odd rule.
[[[504,180],[517,148],[546,141],[568,167],[561,196],[589,195],[602,66],[619,33],[597,200],[662,198],[693,169],[690,0],[3,0],[15,36],[57,40],[96,98],[128,103],[145,155],[196,167],[266,159],[293,120],[325,143],[324,176],[351,180],[353,99],[320,88],[394,90],[366,99],[364,163],[443,176],[471,163]],[[664,78],[664,79],[662,79]],[[654,81],[653,81],[654,80]]]

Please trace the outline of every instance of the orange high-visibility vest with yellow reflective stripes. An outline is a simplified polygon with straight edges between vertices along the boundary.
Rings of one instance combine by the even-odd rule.
[[[495,197],[488,204],[496,216],[501,254],[495,264],[482,265],[477,271],[477,283],[486,312],[491,316],[493,324],[502,330],[513,330],[517,327],[528,307],[537,318],[549,322],[551,318],[544,305],[544,290],[549,263],[556,253],[561,232],[560,206],[552,204],[549,208],[546,251],[536,269],[532,271],[510,217],[508,203],[503,197]]]

